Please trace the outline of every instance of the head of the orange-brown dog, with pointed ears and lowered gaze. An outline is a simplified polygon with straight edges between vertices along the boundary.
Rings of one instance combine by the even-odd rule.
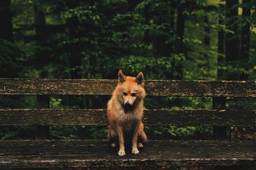
[[[126,111],[133,110],[145,97],[144,77],[141,72],[136,77],[131,77],[125,76],[120,70],[117,87],[118,99]]]

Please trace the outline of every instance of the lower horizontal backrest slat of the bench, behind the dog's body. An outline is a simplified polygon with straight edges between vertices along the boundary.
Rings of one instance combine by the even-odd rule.
[[[256,126],[255,110],[145,110],[145,125]],[[1,109],[0,125],[107,125],[106,110]]]

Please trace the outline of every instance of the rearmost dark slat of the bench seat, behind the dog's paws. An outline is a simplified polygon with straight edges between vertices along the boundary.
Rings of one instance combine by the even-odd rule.
[[[54,146],[108,146],[108,139],[20,139],[0,140],[0,148],[13,147],[54,147]],[[145,146],[256,146],[256,141],[230,140],[149,140]],[[3,154],[0,150],[0,154]]]

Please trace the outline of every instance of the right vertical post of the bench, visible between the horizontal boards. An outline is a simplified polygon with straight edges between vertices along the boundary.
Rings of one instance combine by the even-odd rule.
[[[226,97],[212,97],[212,109],[225,110]],[[214,139],[227,139],[227,127],[213,127],[213,137]]]

